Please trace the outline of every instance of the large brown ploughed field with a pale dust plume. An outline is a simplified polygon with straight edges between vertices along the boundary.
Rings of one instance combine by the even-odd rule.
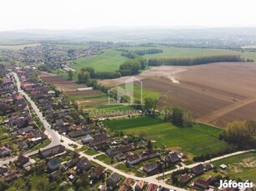
[[[201,66],[158,66],[136,76],[143,88],[159,92],[159,105],[190,111],[199,122],[226,127],[233,120],[256,120],[256,64],[214,63]],[[99,81],[118,86],[123,77]]]

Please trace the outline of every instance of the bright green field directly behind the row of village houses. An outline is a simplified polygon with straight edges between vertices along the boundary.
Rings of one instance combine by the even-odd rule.
[[[223,130],[209,125],[193,125],[191,128],[178,128],[159,118],[147,116],[128,120],[105,121],[113,130],[123,130],[126,134],[146,134],[146,139],[152,140],[153,144],[162,148],[163,144],[170,147],[181,147],[183,152],[197,156],[208,152],[218,151],[228,147],[228,144],[218,140],[218,135]]]

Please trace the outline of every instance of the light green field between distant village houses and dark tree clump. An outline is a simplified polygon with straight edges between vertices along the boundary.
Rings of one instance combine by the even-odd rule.
[[[70,67],[76,71],[86,66],[93,67],[95,71],[117,71],[119,66],[126,60],[128,59],[121,56],[120,51],[104,50],[104,53],[100,55],[81,57],[73,60],[78,64],[70,65]]]

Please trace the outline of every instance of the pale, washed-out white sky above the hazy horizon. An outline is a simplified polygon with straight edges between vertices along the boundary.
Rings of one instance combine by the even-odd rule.
[[[0,0],[0,31],[256,27],[255,0]]]

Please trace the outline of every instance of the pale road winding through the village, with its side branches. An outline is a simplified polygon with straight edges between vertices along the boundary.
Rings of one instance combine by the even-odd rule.
[[[54,145],[57,145],[57,144],[63,144],[67,149],[71,149],[73,150],[73,147],[72,146],[69,146],[68,144],[77,144],[76,141],[73,141],[73,140],[70,140],[68,139],[67,137],[65,136],[62,136],[62,135],[59,135],[57,131],[55,130],[51,130],[50,128],[50,124],[48,124],[48,121],[47,120],[44,120],[43,118],[43,114],[40,112],[40,110],[38,109],[38,106],[35,105],[35,103],[33,102],[33,100],[31,100],[31,98],[27,95],[27,93],[25,93],[23,90],[21,90],[20,86],[21,86],[21,83],[18,79],[18,76],[16,73],[13,73],[14,74],[14,77],[17,81],[17,86],[18,86],[18,92],[20,94],[22,94],[23,96],[25,96],[25,98],[28,100],[28,102],[32,105],[33,107],[33,110],[35,110],[36,114],[38,115],[39,119],[42,121],[46,131],[45,133],[49,136],[50,140],[52,140],[51,144],[49,144],[48,146],[46,146],[45,148],[43,149],[47,149],[49,147],[52,147]],[[60,140],[63,140],[63,142],[61,142]],[[78,145],[78,148],[80,148],[81,145]],[[227,157],[230,157],[230,156],[233,156],[233,155],[237,155],[237,154],[243,154],[243,153],[248,153],[248,152],[251,152],[251,151],[255,151],[255,149],[251,149],[251,150],[246,150],[246,151],[239,151],[239,152],[236,152],[236,153],[233,153],[233,154],[226,154],[226,155],[223,155],[223,156],[220,156],[220,157],[216,157],[214,159],[211,159],[211,160],[208,160],[208,161],[205,161],[203,163],[196,163],[196,164],[190,164],[188,166],[184,165],[183,167],[181,167],[180,169],[183,169],[183,168],[192,168],[193,166],[196,166],[198,164],[206,164],[206,163],[209,163],[210,161],[215,161],[215,160],[218,160],[218,159],[223,159],[223,158],[227,158]],[[28,156],[29,155],[33,155],[33,154],[36,154],[38,153],[38,150],[35,150],[33,151],[32,153],[29,153],[27,154]],[[115,169],[114,167],[112,167],[111,165],[108,165],[108,164],[105,164],[103,163],[102,161],[98,160],[98,159],[94,159],[94,157],[97,155],[88,155],[88,154],[84,154],[83,152],[80,152],[79,154],[81,154],[81,156],[84,156],[86,158],[88,158],[89,160],[97,163],[97,164],[100,164],[102,165],[103,167],[107,168],[107,169],[110,169],[112,170],[113,172],[115,173],[118,173],[124,177],[127,177],[127,178],[131,178],[131,179],[138,179],[138,180],[144,180],[146,182],[148,182],[149,184],[157,184],[157,185],[162,185],[168,189],[175,189],[175,190],[185,190],[185,189],[180,189],[180,188],[177,188],[177,187],[174,187],[174,186],[171,186],[171,185],[168,185],[168,184],[165,184],[165,180],[158,180],[158,174],[156,175],[153,175],[153,176],[150,176],[150,177],[145,177],[145,178],[141,178],[141,177],[137,177],[137,176],[134,176],[132,174],[126,174],[126,173],[123,173],[122,171],[118,170],[118,169]],[[1,161],[0,164],[8,164],[9,161],[13,161],[17,159],[17,157],[14,157],[12,159],[7,159],[5,161]],[[171,174],[173,173],[173,171],[175,171],[177,169],[173,169],[173,170],[169,170],[168,172],[165,172],[164,174]]]

